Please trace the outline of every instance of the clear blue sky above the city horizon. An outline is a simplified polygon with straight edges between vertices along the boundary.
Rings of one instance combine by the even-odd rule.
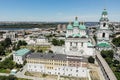
[[[99,21],[104,8],[120,22],[120,0],[0,0],[0,21]]]

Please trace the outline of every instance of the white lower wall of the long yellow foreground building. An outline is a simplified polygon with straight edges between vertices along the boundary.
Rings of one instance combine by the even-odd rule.
[[[74,76],[74,77],[88,77],[88,69],[83,67],[68,67],[68,66],[58,66],[53,69],[45,68],[44,64],[33,64],[27,63],[27,70],[33,72],[41,72],[46,74],[54,75],[64,75],[64,76]]]

